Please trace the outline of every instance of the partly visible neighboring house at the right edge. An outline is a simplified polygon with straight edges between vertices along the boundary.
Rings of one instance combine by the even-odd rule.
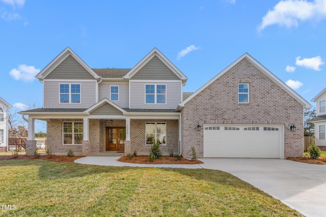
[[[312,119],[315,124],[315,143],[321,150],[326,150],[325,125],[326,125],[326,88],[311,100],[316,103],[316,117]]]

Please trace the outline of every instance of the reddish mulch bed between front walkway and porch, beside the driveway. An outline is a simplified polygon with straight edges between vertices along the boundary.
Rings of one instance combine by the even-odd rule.
[[[176,158],[169,156],[162,156],[160,159],[156,159],[151,162],[148,160],[148,156],[146,155],[140,155],[131,159],[129,159],[127,156],[124,156],[121,157],[118,161],[132,164],[203,164],[203,162],[198,160],[188,160],[184,158],[177,160]]]

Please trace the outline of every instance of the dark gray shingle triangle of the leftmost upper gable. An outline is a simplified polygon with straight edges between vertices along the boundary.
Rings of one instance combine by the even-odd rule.
[[[94,79],[71,55],[57,66],[46,79]]]

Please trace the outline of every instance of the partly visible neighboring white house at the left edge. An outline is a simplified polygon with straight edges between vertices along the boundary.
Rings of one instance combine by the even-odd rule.
[[[12,106],[0,97],[0,152],[9,150],[8,147],[8,109]]]

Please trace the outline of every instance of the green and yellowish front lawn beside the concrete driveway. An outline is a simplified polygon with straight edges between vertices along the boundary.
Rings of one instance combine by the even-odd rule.
[[[0,161],[0,216],[302,216],[229,173]]]

